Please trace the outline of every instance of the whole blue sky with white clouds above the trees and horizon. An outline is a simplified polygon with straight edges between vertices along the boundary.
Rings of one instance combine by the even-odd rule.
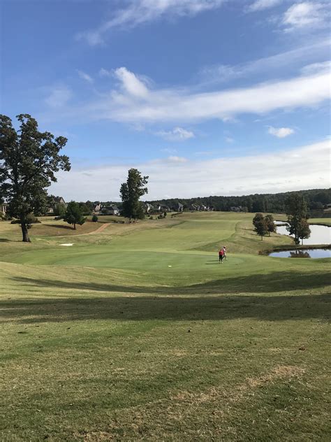
[[[0,112],[66,136],[49,192],[330,187],[329,0],[0,0]]]

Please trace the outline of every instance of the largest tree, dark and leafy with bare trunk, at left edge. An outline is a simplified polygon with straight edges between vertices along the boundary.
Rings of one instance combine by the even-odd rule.
[[[57,171],[70,170],[66,155],[59,155],[67,138],[54,138],[38,130],[28,114],[17,115],[20,129],[6,115],[0,115],[0,197],[8,202],[8,213],[20,220],[24,242],[30,242],[29,214],[44,213],[46,189],[57,181]]]

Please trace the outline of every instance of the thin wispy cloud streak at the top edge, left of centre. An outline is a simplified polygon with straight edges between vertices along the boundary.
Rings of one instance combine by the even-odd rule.
[[[112,28],[135,27],[139,24],[153,22],[161,17],[183,17],[196,15],[205,10],[219,8],[224,0],[130,0],[127,7],[115,11],[113,17],[100,27],[80,32],[76,38],[85,40],[89,45],[104,43],[103,35]]]

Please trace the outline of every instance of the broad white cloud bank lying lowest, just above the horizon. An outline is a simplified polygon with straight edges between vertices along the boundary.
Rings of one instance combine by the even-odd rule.
[[[61,194],[68,201],[114,201],[119,198],[119,186],[126,179],[128,168],[133,166],[149,176],[148,199],[159,199],[165,194],[184,198],[328,187],[330,144],[330,140],[325,140],[246,157],[194,161],[170,157],[140,164],[72,169],[58,174],[58,183],[52,185],[50,192]]]

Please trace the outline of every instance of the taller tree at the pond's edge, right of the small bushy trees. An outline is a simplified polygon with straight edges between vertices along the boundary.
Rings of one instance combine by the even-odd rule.
[[[286,199],[286,213],[288,225],[286,229],[294,236],[295,244],[300,244],[300,238],[309,238],[310,229],[307,229],[308,204],[302,194],[293,193]],[[308,223],[307,223],[308,224]]]

